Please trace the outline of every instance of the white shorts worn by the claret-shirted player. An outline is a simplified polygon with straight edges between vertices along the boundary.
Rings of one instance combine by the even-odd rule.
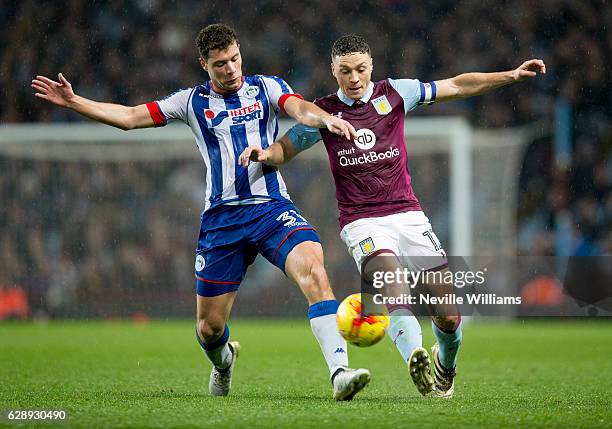
[[[446,253],[422,211],[357,219],[342,228],[340,237],[361,272],[363,262],[385,251],[394,253],[412,270],[447,266]]]

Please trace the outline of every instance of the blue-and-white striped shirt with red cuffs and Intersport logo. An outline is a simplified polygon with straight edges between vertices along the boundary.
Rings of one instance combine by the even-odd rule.
[[[181,120],[191,128],[206,164],[204,211],[221,204],[255,204],[289,199],[276,167],[238,165],[248,146],[267,148],[278,134],[278,114],[285,100],[298,96],[276,76],[247,76],[230,94],[216,92],[211,82],[179,90],[147,107],[156,126]]]

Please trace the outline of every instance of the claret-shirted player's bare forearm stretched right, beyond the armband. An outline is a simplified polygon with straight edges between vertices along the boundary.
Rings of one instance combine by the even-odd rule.
[[[505,85],[521,82],[546,73],[544,61],[525,61],[515,70],[496,73],[464,73],[450,79],[436,81],[436,101],[451,101],[481,95]]]

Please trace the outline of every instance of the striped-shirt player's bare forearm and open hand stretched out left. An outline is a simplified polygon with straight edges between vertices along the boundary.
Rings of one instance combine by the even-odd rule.
[[[89,100],[76,95],[72,85],[63,74],[58,75],[58,80],[59,82],[45,76],[36,76],[36,79],[32,80],[32,88],[36,90],[34,95],[56,106],[74,110],[89,119],[122,130],[154,126],[151,114],[145,104],[129,107]]]

